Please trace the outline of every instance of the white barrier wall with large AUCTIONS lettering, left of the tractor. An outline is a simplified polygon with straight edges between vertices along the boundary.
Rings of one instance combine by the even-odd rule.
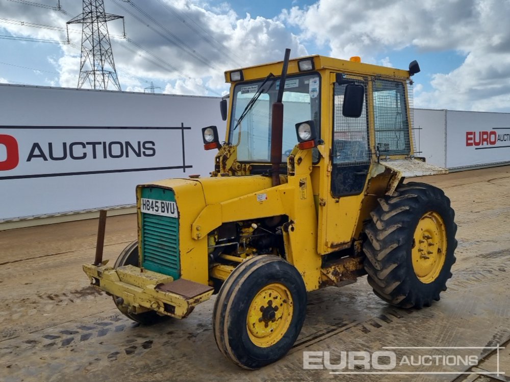
[[[0,85],[0,222],[134,204],[139,183],[208,176],[219,98]]]

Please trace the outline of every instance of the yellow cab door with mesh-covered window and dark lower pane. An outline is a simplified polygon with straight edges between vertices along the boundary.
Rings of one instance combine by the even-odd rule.
[[[359,118],[344,117],[342,107],[346,85],[332,81],[330,112],[333,121],[326,173],[328,181],[323,183],[319,195],[318,249],[321,254],[350,244],[370,168],[368,78],[350,75],[345,78],[365,87],[365,100]]]

